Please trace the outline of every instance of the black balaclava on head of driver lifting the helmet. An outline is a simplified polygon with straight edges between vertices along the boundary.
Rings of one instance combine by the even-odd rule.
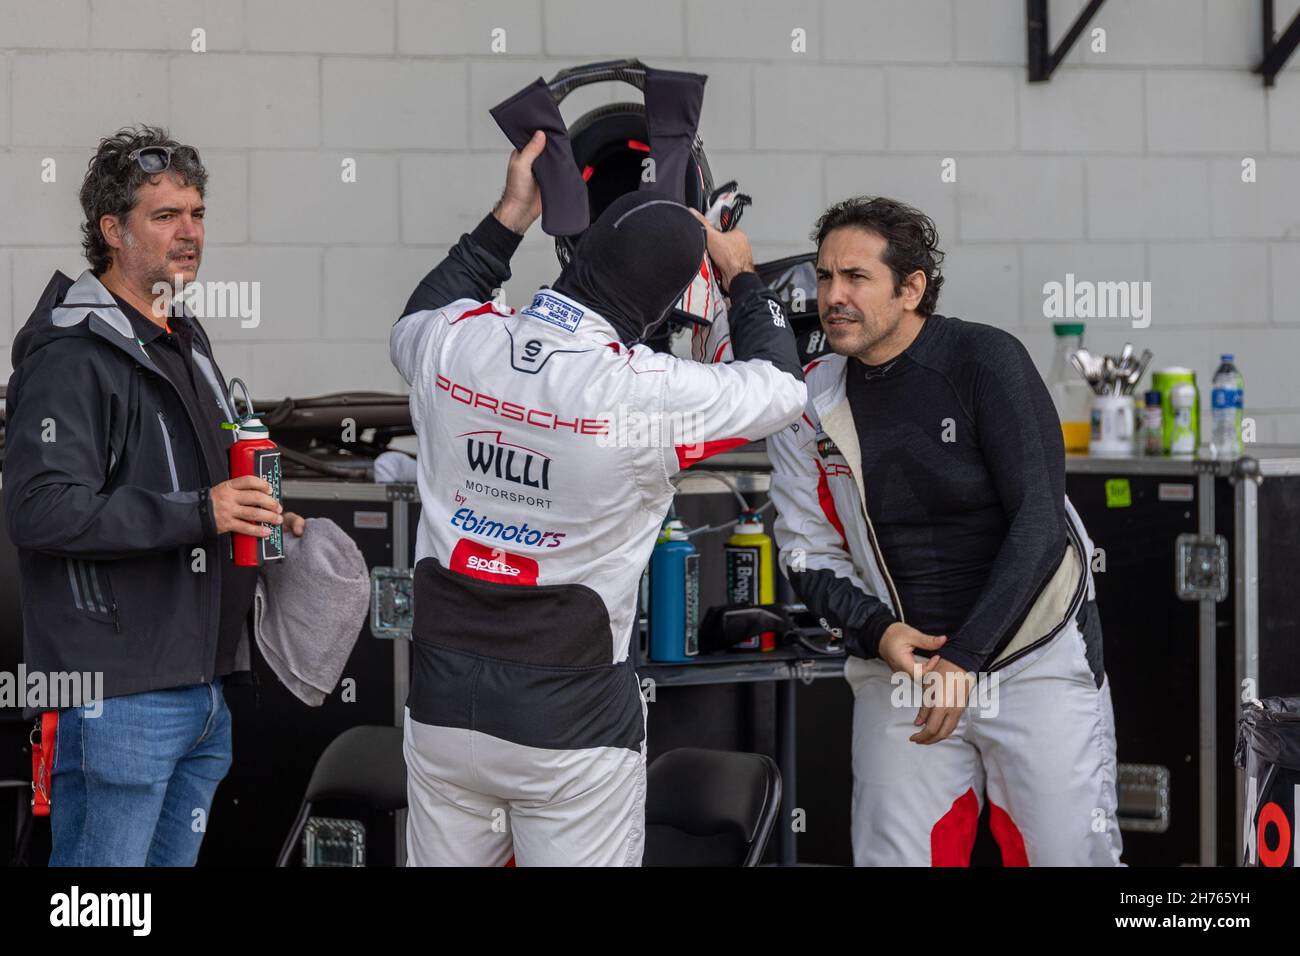
[[[633,345],[686,291],[705,247],[705,228],[685,206],[653,190],[628,193],[582,234],[552,287],[598,312],[624,345]]]

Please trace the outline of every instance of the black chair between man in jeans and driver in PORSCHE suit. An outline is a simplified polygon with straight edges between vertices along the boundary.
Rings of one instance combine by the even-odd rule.
[[[348,727],[316,761],[294,827],[280,851],[277,866],[289,866],[298,842],[320,800],[352,800],[376,810],[404,810],[406,757],[400,727]]]

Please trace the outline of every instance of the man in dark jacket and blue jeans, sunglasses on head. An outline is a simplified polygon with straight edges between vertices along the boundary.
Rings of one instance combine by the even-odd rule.
[[[29,672],[101,672],[61,706],[53,866],[188,866],[230,767],[222,679],[250,667],[261,479],[231,480],[234,412],[198,319],[156,287],[203,259],[199,153],[140,126],[103,139],[81,189],[91,268],[56,272],[13,342],[4,498]],[[44,741],[48,747],[52,741]]]

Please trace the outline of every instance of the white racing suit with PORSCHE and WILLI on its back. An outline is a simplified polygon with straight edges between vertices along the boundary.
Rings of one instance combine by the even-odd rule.
[[[640,865],[628,652],[670,479],[784,428],[807,393],[753,273],[731,289],[738,360],[702,365],[628,349],[552,290],[519,312],[485,302],[517,241],[485,219],[391,336],[420,444],[408,857]]]

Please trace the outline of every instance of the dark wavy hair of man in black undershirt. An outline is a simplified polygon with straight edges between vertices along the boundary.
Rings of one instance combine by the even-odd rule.
[[[904,280],[916,269],[926,273],[926,291],[916,303],[916,312],[930,316],[944,287],[944,273],[939,267],[944,254],[939,248],[939,230],[933,220],[897,199],[884,196],[854,196],[836,203],[812,226],[811,239],[822,248],[822,242],[835,229],[855,226],[875,233],[885,241],[885,265],[894,276],[894,295],[902,291]]]

